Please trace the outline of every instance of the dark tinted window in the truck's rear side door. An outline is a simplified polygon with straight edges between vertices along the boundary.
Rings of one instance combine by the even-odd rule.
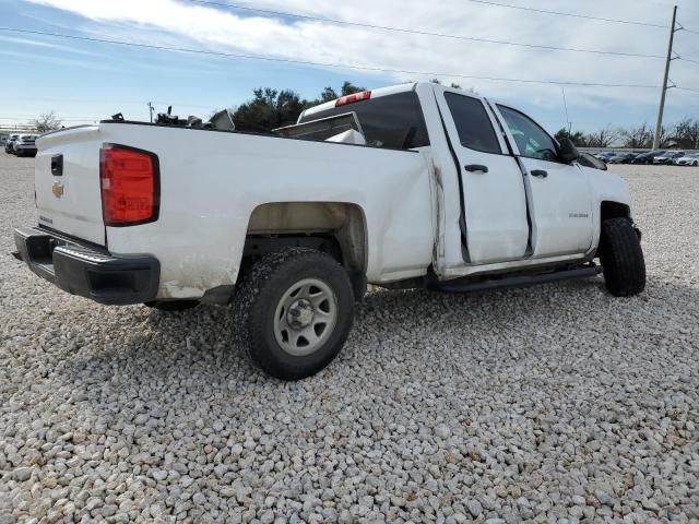
[[[457,124],[461,145],[484,153],[502,153],[493,123],[479,99],[455,93],[445,93],[445,98]]]

